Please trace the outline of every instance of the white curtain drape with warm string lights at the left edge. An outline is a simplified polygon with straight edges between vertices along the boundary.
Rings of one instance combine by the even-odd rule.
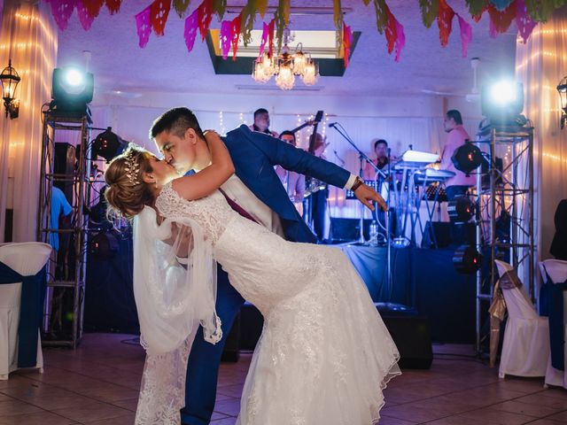
[[[12,58],[21,81],[16,92],[19,118],[0,120],[0,241],[4,239],[5,210],[9,207],[13,208],[13,241],[35,241],[41,109],[50,100],[51,73],[57,61],[57,28],[49,4],[4,1],[0,66],[7,65],[8,58]],[[9,187],[12,189],[7,190]]]

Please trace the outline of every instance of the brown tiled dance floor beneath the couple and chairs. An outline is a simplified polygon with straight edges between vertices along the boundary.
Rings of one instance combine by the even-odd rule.
[[[76,351],[44,349],[43,375],[18,372],[0,381],[0,425],[132,424],[144,351],[121,343],[130,338],[87,334]],[[465,357],[470,346],[434,351],[430,370],[404,370],[390,383],[381,425],[567,423],[567,390],[545,390],[541,379],[499,380],[496,369]],[[250,359],[221,366],[213,425],[234,425]]]

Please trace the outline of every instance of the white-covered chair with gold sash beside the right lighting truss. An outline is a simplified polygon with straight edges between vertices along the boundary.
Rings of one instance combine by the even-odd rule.
[[[548,318],[538,315],[514,268],[498,259],[494,263],[508,310],[498,375],[501,378],[545,376],[549,357]]]

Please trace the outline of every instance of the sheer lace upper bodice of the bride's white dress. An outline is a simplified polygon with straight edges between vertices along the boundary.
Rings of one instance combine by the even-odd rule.
[[[217,243],[230,220],[238,217],[218,190],[208,197],[188,201],[175,192],[171,182],[161,189],[156,208],[167,219],[188,217],[196,220],[213,244]]]

